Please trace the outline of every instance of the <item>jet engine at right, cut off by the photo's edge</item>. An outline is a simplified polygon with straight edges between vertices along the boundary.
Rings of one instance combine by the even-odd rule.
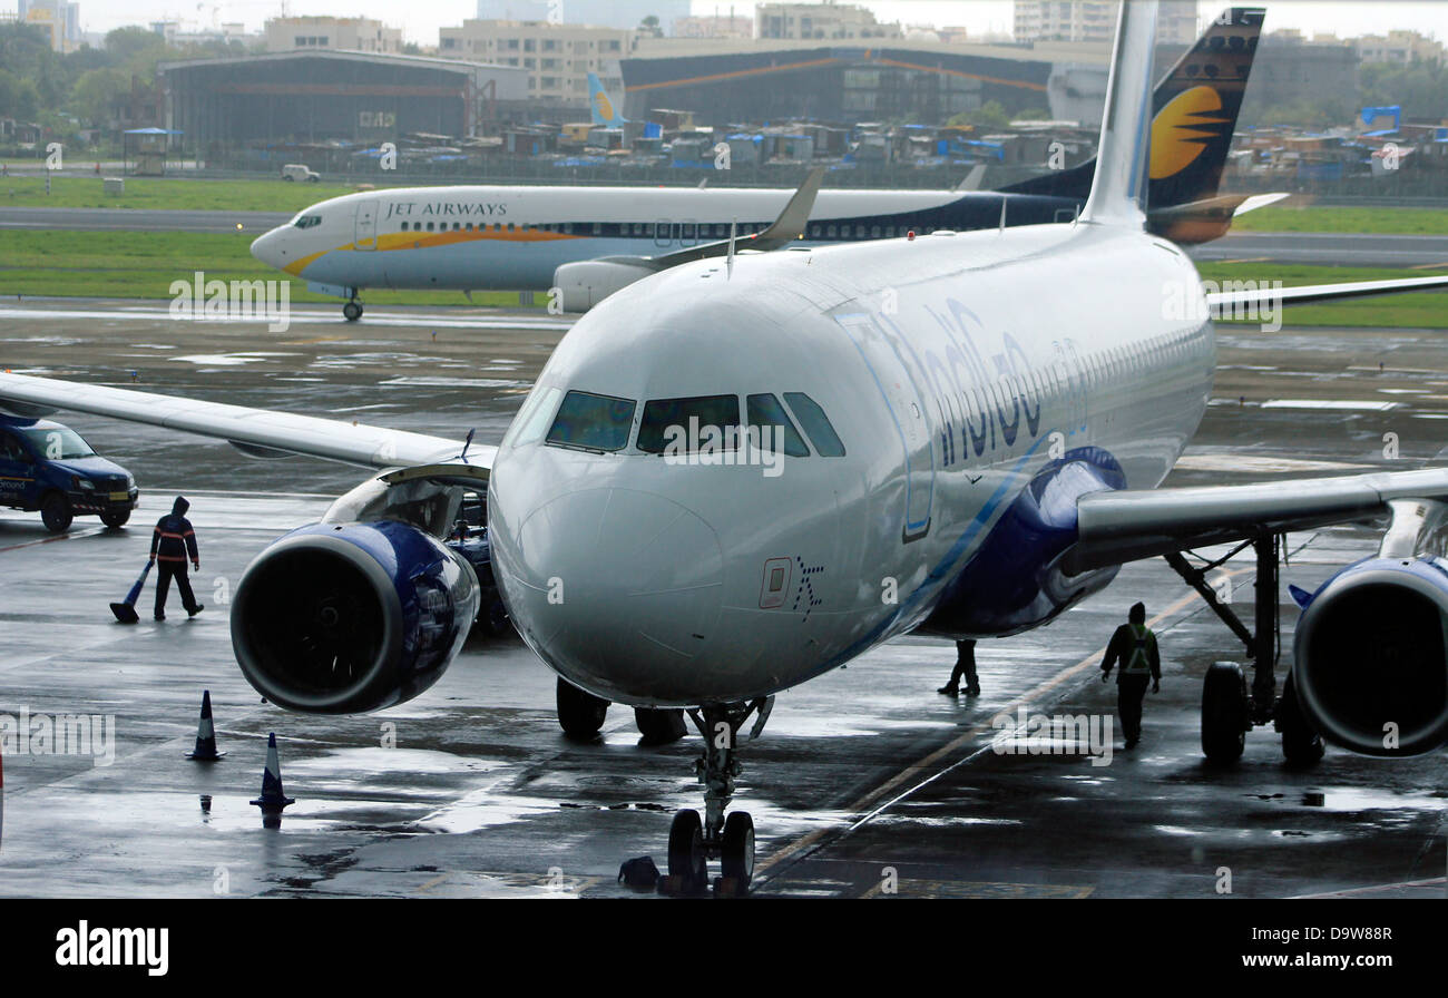
[[[1448,743],[1445,629],[1448,562],[1370,558],[1342,569],[1297,621],[1292,675],[1303,714],[1322,737],[1363,755]]]

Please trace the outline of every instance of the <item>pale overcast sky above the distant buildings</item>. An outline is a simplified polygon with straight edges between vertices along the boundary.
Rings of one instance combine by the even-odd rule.
[[[566,0],[565,0],[566,3]],[[727,14],[730,3],[692,0],[694,12]],[[1009,32],[1011,0],[863,0],[880,20],[901,20],[908,25],[963,25],[973,32]],[[281,0],[80,0],[81,25],[88,32],[106,32],[122,25],[143,25],[152,20],[180,19],[190,25],[213,22],[243,22],[249,29],[261,28],[268,17],[281,13]],[[472,0],[290,0],[292,14],[365,14],[387,25],[403,28],[407,41],[423,45],[437,43],[437,29],[459,25],[473,16]],[[1215,16],[1231,6],[1226,0],[1202,0],[1203,16]],[[0,0],[0,10],[17,7],[16,0]],[[737,13],[753,13],[753,3],[734,3]],[[1277,0],[1267,3],[1267,29],[1297,28],[1312,33],[1337,32],[1339,36],[1381,33],[1393,28],[1410,28],[1448,41],[1448,0],[1384,1],[1384,0]]]

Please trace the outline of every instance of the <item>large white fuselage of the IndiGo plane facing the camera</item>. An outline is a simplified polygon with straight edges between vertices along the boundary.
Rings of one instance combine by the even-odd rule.
[[[925,624],[973,571],[1037,578],[1035,539],[999,533],[1018,529],[1006,513],[1032,482],[1050,504],[1047,479],[1077,461],[1109,466],[1114,487],[1154,487],[1200,422],[1213,336],[1183,301],[1200,304],[1200,280],[1182,251],[1096,225],[640,281],[563,337],[498,450],[489,527],[510,613],[575,684],[686,705],[843,665]],[[628,446],[544,443],[571,390],[637,401]],[[812,446],[766,475],[636,446],[647,400],[737,394],[743,407],[754,393],[807,394],[846,453]],[[1002,566],[999,543],[982,563],[992,539],[1019,563]],[[1056,610],[1105,581],[1067,585]]]

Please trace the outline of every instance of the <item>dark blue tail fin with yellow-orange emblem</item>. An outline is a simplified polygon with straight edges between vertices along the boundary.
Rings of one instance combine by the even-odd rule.
[[[1266,14],[1261,7],[1228,7],[1157,81],[1147,177],[1151,211],[1216,197]],[[1095,171],[1096,161],[1087,159],[1001,190],[1086,200]]]

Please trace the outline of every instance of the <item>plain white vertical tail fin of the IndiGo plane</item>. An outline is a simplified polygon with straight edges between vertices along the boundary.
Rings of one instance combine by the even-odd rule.
[[[1100,143],[1096,148],[1096,175],[1082,222],[1145,226],[1142,198],[1151,136],[1151,54],[1156,36],[1156,0],[1121,4]]]

